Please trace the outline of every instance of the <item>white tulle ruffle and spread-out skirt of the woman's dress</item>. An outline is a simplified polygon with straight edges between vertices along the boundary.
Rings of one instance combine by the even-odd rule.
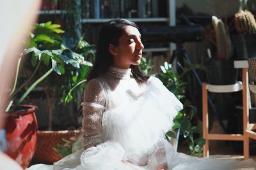
[[[103,113],[103,143],[77,150],[52,166],[37,164],[29,170],[156,170],[159,164],[175,170],[256,167],[253,160],[197,158],[176,152],[164,139],[164,132],[172,128],[180,110],[182,104],[161,81],[150,81],[137,101]]]

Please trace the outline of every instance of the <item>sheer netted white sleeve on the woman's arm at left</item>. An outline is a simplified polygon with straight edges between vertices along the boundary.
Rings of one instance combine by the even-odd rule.
[[[102,113],[105,109],[106,94],[98,80],[90,80],[84,90],[83,106],[83,148],[86,150],[99,145],[102,131]]]

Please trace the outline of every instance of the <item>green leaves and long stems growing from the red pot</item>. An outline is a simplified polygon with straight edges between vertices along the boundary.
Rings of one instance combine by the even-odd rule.
[[[19,106],[19,104],[28,96],[29,92],[31,92],[36,85],[45,80],[45,78],[47,78],[47,76],[52,72],[55,71],[59,75],[65,74],[65,64],[70,64],[70,66],[77,69],[79,69],[81,65],[92,66],[90,62],[84,60],[82,55],[72,52],[68,48],[65,48],[65,46],[61,45],[61,37],[58,34],[63,33],[64,31],[59,29],[59,27],[60,25],[51,24],[51,22],[35,25],[35,32],[31,34],[31,39],[28,41],[27,48],[24,50],[24,53],[20,55],[19,62],[17,64],[15,84],[13,85],[12,92],[10,93],[12,101],[8,108],[6,108],[6,111],[15,110],[15,108],[17,108],[17,106]],[[19,78],[20,61],[22,57],[28,56],[29,53],[31,53],[33,73],[29,76],[28,80],[19,82],[17,79]],[[41,64],[43,63],[46,67],[49,66],[50,62],[51,68],[42,74],[40,78],[35,80],[21,96],[18,96],[18,92],[31,83],[31,80],[33,80],[36,75],[36,71],[38,71]],[[21,84],[19,87],[17,87],[17,81]],[[12,103],[15,103],[15,105],[10,107]]]

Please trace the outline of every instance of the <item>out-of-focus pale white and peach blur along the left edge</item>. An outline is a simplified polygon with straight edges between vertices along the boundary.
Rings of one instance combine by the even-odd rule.
[[[0,111],[4,113],[8,94],[12,89],[13,77],[17,59],[22,52],[22,39],[28,36],[31,25],[36,20],[37,11],[40,7],[40,0],[23,1],[1,1],[0,21],[1,21],[1,41],[0,41]],[[0,119],[0,131],[3,130],[4,120]],[[3,143],[0,139],[0,144]],[[0,145],[1,146],[1,145]],[[0,169],[22,169],[8,156],[0,153]]]

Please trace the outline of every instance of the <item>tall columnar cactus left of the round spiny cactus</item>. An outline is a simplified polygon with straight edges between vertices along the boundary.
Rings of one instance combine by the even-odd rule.
[[[221,19],[212,16],[212,25],[216,34],[217,59],[228,60],[230,58],[230,37],[226,32],[225,25]]]

